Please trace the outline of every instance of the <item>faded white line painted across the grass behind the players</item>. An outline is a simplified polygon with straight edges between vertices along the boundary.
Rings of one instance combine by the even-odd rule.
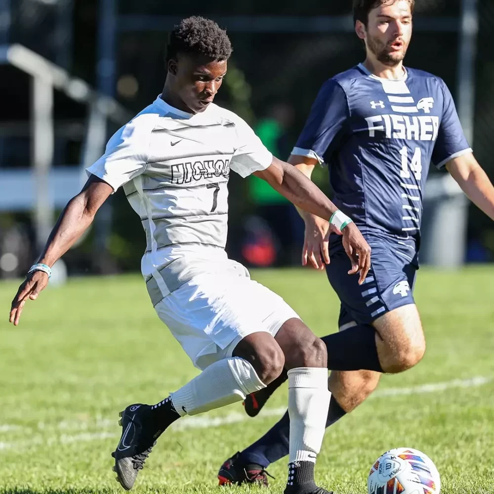
[[[414,394],[426,394],[437,393],[445,391],[447,389],[454,388],[472,388],[479,387],[488,384],[493,381],[493,377],[477,376],[470,379],[454,379],[447,382],[436,382],[431,384],[422,384],[419,386],[403,387],[403,388],[385,388],[377,390],[370,398],[382,398],[387,396],[408,396]],[[287,411],[286,407],[264,409],[260,412],[261,417],[281,417]],[[206,429],[210,427],[220,427],[222,425],[233,424],[237,422],[243,422],[248,419],[246,413],[231,412],[227,415],[219,417],[208,417],[204,415],[184,417],[183,419],[175,422],[171,429],[174,431],[183,431],[187,429]],[[20,427],[17,425],[0,425],[0,432],[19,431],[29,432],[30,439],[20,440],[16,442],[0,442],[0,451],[3,450],[22,450],[38,445],[52,445],[52,444],[69,444],[80,443],[87,441],[96,441],[108,438],[119,437],[120,434],[116,432],[105,431],[109,427],[113,427],[116,424],[116,420],[98,418],[94,425],[89,423],[77,423],[77,422],[60,422],[55,426],[47,426],[43,422],[38,424],[38,431],[46,431],[56,429],[58,431],[64,431],[62,434],[54,436],[43,436],[40,432],[33,431],[33,429],[27,427]],[[76,427],[72,428],[71,426]],[[79,434],[69,435],[66,431],[85,430],[89,428],[100,429],[100,432],[81,432]]]

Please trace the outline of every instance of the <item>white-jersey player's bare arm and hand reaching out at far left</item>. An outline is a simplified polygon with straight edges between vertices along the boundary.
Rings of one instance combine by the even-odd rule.
[[[113,189],[106,182],[91,175],[82,191],[69,201],[54,226],[39,263],[52,266],[81,237],[94,219],[96,211],[106,201]],[[40,291],[48,284],[48,275],[33,271],[17,290],[12,300],[9,321],[19,324],[26,300],[36,300]]]

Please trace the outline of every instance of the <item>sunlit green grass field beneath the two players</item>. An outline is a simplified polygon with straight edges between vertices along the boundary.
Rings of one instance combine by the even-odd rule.
[[[324,274],[257,271],[319,335],[336,329]],[[422,269],[416,300],[428,349],[411,371],[385,376],[374,397],[332,426],[316,476],[336,494],[367,492],[371,463],[400,446],[429,454],[443,493],[494,493],[494,269]],[[84,278],[28,303],[19,327],[7,312],[17,283],[0,284],[0,493],[124,492],[111,471],[118,412],[156,403],[197,371],[155,315],[142,279]],[[254,310],[255,308],[253,308]],[[401,393],[401,394],[400,394]],[[136,493],[217,493],[221,463],[267,430],[286,385],[257,419],[241,404],[187,417],[167,431]],[[283,492],[286,461],[269,469]],[[227,492],[260,492],[258,488]]]

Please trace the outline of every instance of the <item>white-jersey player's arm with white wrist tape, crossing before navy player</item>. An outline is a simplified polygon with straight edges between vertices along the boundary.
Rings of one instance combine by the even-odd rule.
[[[273,158],[270,166],[254,174],[266,180],[291,203],[308,213],[329,221],[331,216],[338,211],[338,208],[329,201],[319,187],[293,165]],[[341,233],[346,253],[352,261],[349,274],[360,272],[359,283],[363,283],[371,267],[371,247],[353,222],[345,222],[341,227]]]

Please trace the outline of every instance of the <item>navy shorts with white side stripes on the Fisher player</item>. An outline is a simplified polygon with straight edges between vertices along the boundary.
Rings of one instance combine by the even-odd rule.
[[[341,301],[340,330],[357,324],[371,324],[398,307],[414,304],[413,286],[418,269],[415,240],[364,234],[371,246],[371,269],[363,285],[358,275],[349,275],[350,259],[341,237],[331,235],[329,283]]]

